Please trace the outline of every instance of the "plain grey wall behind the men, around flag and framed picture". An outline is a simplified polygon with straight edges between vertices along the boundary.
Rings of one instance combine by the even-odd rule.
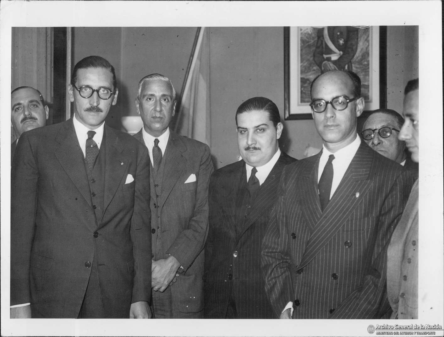
[[[98,54],[116,68],[119,99],[107,123],[119,128],[136,115],[137,83],[144,75],[169,76],[180,93],[196,28],[74,28],[73,62]],[[402,111],[405,83],[418,74],[417,27],[387,29],[387,106]],[[210,28],[211,152],[216,167],[238,160],[234,113],[246,99],[265,96],[284,119],[282,27]],[[301,159],[305,148],[321,147],[313,120],[283,121],[281,147]]]

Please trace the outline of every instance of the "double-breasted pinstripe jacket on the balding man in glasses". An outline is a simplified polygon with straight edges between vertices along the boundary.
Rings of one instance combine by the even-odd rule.
[[[321,154],[285,167],[264,239],[266,292],[279,316],[373,318],[385,292],[386,248],[410,189],[399,164],[360,147],[324,212]]]

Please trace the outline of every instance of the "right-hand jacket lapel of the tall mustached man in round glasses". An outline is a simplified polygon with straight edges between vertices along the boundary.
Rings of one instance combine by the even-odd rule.
[[[105,141],[105,177],[103,195],[103,214],[119,187],[123,174],[127,170],[128,161],[122,154],[123,145],[111,127],[105,125],[103,137]]]

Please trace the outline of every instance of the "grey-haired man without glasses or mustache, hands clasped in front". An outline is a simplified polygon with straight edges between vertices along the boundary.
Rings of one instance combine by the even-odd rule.
[[[170,131],[175,95],[170,79],[151,74],[140,80],[135,101],[143,120],[135,137],[147,146],[153,164],[152,309],[155,318],[200,318],[213,164],[207,145]]]

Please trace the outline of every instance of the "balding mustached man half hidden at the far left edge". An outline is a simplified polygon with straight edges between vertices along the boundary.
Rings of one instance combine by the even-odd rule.
[[[11,162],[22,133],[44,127],[49,116],[43,95],[33,87],[18,87],[11,92],[11,123],[16,140],[11,143]]]

